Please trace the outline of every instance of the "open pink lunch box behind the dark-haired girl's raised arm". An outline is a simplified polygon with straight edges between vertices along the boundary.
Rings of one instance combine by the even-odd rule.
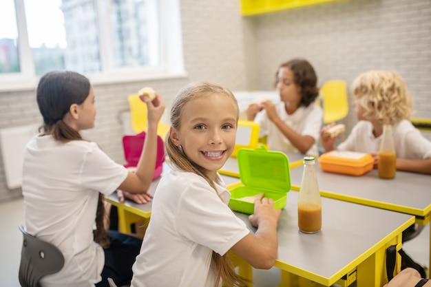
[[[126,160],[125,167],[136,167],[142,153],[145,136],[145,131],[135,136],[123,136],[123,149]],[[157,136],[157,158],[156,158],[156,169],[154,169],[153,179],[160,176],[163,171],[163,162],[165,161],[165,146],[160,136]]]

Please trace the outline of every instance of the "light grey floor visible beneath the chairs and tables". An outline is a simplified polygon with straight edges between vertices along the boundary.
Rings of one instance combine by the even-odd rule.
[[[0,287],[18,287],[18,267],[22,236],[18,225],[23,224],[23,200],[0,202]],[[403,250],[416,262],[428,266],[430,256],[430,224],[422,233],[403,244]],[[280,270],[253,270],[255,287],[274,287],[280,284]]]

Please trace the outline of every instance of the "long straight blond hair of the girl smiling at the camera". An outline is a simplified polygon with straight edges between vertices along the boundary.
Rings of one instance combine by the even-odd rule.
[[[207,82],[191,83],[183,87],[180,92],[178,92],[174,103],[172,103],[171,127],[176,130],[180,129],[182,111],[184,110],[187,103],[189,103],[193,99],[200,98],[202,96],[208,96],[210,94],[226,94],[234,100],[235,105],[237,105],[238,109],[237,100],[235,99],[235,96],[233,96],[231,91],[229,91],[229,89],[221,87],[220,85]],[[174,145],[174,142],[169,137],[169,133],[166,136],[165,142],[167,155],[169,156],[169,159],[171,160],[172,164],[174,164],[176,167],[178,167],[178,169],[182,171],[192,172],[198,174],[199,176],[202,176],[202,178],[207,180],[208,184],[213,189],[215,189],[215,184],[213,180],[211,180],[211,178],[207,176],[207,173],[204,171],[204,169],[195,162],[189,160],[185,153],[182,152],[181,147],[177,147],[176,145]],[[215,286],[218,286],[220,284],[220,280],[223,282],[224,286],[227,287],[245,286],[244,279],[240,277],[237,273],[235,273],[235,269],[233,268],[233,264],[227,253],[222,256],[213,251],[212,257],[218,270]]]

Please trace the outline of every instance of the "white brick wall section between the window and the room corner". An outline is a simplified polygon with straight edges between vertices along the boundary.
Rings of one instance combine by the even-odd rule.
[[[238,0],[181,1],[185,69],[191,81],[247,88]]]

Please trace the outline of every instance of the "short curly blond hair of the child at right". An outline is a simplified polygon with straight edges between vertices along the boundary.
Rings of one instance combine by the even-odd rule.
[[[412,114],[412,99],[403,78],[396,72],[372,70],[353,81],[352,91],[366,118],[394,125]]]

